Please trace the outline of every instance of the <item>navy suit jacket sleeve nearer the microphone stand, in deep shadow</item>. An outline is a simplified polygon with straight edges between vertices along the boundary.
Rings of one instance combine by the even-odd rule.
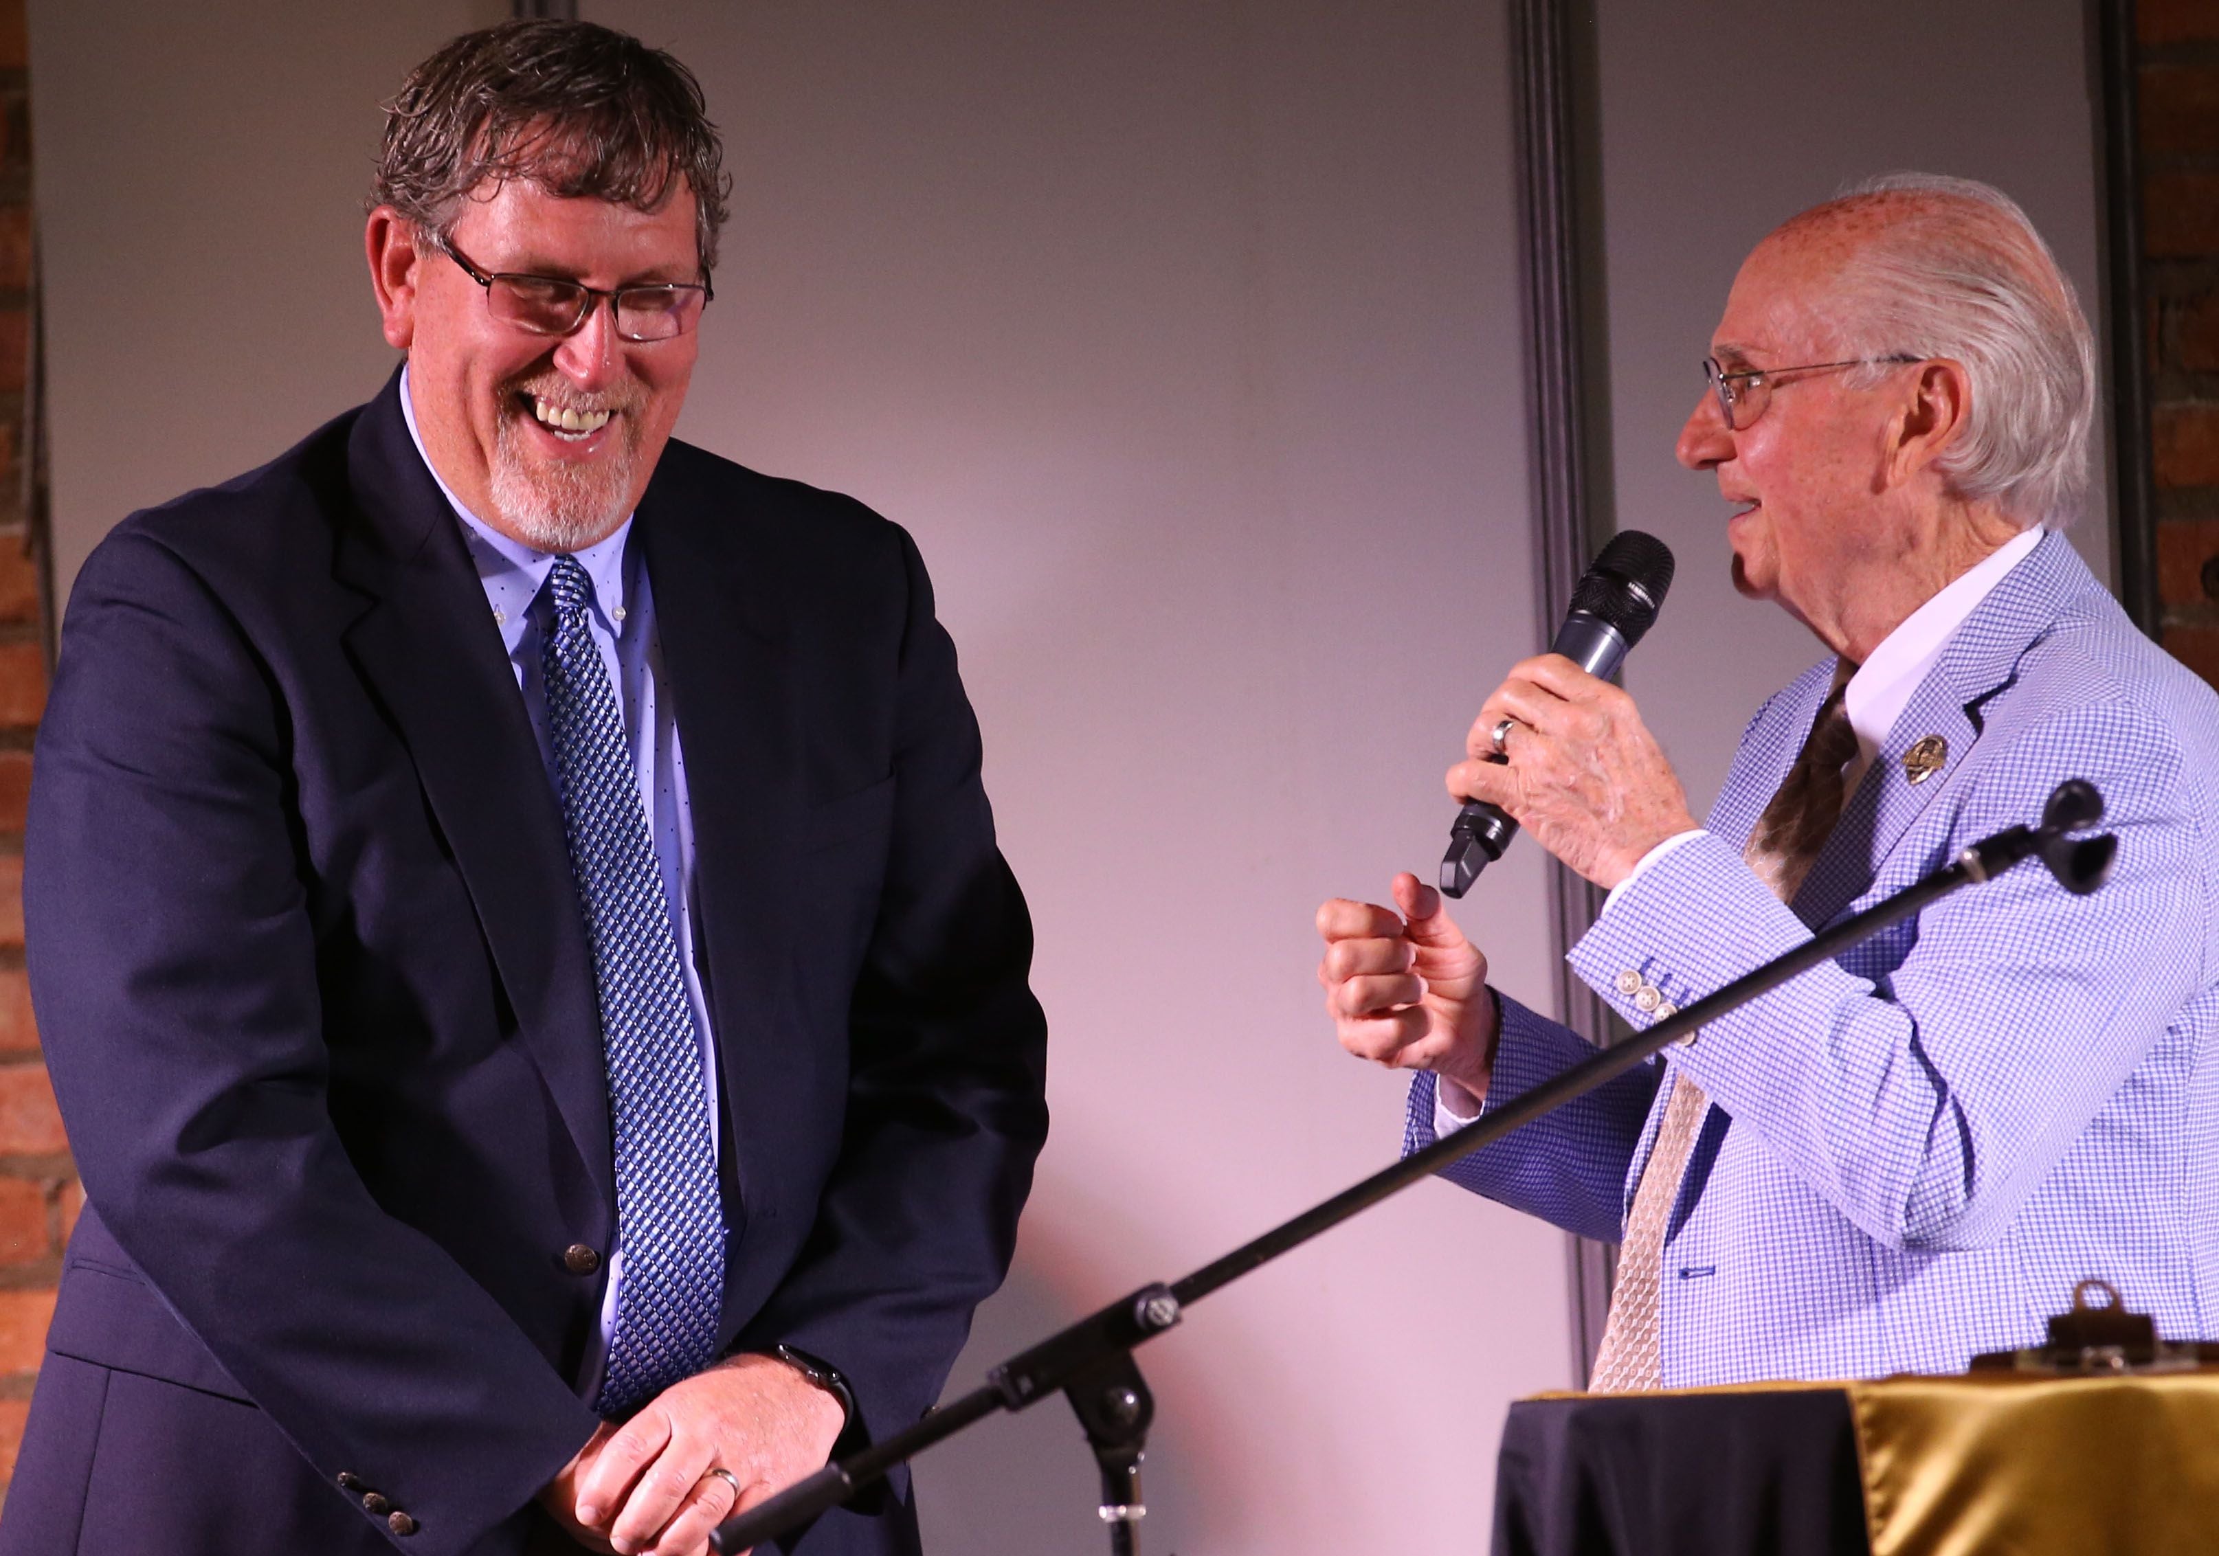
[[[872,1438],[939,1398],[972,1310],[1007,1274],[1047,1139],[1032,919],[994,846],[979,724],[905,533],[901,564],[894,824],[850,1008],[841,1152],[799,1261],[734,1345],[834,1365]]]

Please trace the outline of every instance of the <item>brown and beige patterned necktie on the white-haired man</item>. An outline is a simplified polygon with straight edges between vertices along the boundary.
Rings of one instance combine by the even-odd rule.
[[[1771,804],[1764,806],[1764,815],[1757,817],[1749,846],[1742,850],[1742,859],[1757,872],[1757,879],[1780,895],[1780,901],[1795,901],[1795,892],[1811,875],[1811,866],[1817,863],[1826,837],[1842,819],[1846,797],[1842,768],[1857,755],[1857,730],[1848,724],[1842,690],[1855,670],[1857,666],[1848,661],[1835,666],[1833,693],[1820,704],[1811,737],[1804,739],[1795,766],[1789,768]],[[1695,1150],[1706,1112],[1709,1099],[1704,1099],[1702,1088],[1684,1074],[1675,1077],[1671,1099],[1664,1103],[1664,1123],[1658,1125],[1649,1165],[1633,1192],[1627,1241],[1618,1250],[1611,1318],[1602,1327],[1602,1350],[1595,1354],[1595,1372],[1589,1381],[1589,1390],[1595,1394],[1664,1387],[1660,1343],[1664,1230],[1673,1203],[1680,1199],[1680,1179],[1686,1176],[1686,1159]]]

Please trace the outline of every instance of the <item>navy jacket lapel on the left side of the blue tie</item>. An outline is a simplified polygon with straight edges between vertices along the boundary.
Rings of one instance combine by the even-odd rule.
[[[415,761],[526,1052],[615,1214],[601,1021],[561,810],[462,528],[402,422],[399,375],[348,439],[357,522],[337,575],[368,595],[344,641]]]

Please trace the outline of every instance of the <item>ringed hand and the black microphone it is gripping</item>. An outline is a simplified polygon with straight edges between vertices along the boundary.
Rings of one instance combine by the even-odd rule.
[[[1469,759],[1449,768],[1449,792],[1467,804],[1440,861],[1447,897],[1462,897],[1520,826],[1598,886],[1618,886],[1655,843],[1695,826],[1633,699],[1602,679],[1655,624],[1671,575],[1664,542],[1611,539],[1549,653],[1513,666],[1480,708]]]

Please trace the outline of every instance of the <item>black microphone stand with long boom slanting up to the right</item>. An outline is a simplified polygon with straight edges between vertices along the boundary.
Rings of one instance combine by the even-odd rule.
[[[2050,795],[2039,828],[2013,826],[1973,843],[1957,859],[1913,881],[1886,901],[1820,930],[1806,943],[1742,974],[1715,994],[1698,999],[1675,1017],[1635,1032],[1615,1048],[1600,1050],[1593,1059],[1584,1059],[1571,1070],[1509,1099],[1456,1134],[1411,1152],[1391,1168],[1374,1172],[1362,1183],[1345,1188],[1325,1203],[1243,1243],[1223,1259],[1169,1285],[1161,1281],[1143,1285],[1107,1307],[1087,1314],[1067,1330],[994,1367],[987,1374],[985,1387],[976,1387],[928,1412],[923,1421],[883,1443],[872,1443],[848,1458],[834,1461],[770,1501],[726,1518],[710,1534],[710,1547],[719,1556],[728,1556],[772,1540],[810,1523],[885,1476],[894,1465],[908,1463],[934,1443],[963,1432],[996,1410],[1025,1410],[1061,1392],[1072,1401],[1072,1410],[1078,1412],[1078,1423],[1085,1427],[1087,1443],[1094,1447],[1094,1458],[1101,1465],[1101,1518],[1110,1525],[1112,1556],[1138,1556],[1138,1532],[1134,1525],[1147,1514],[1141,1501],[1141,1456],[1147,1445],[1147,1427],[1156,1414],[1156,1403],[1141,1378],[1141,1370],[1134,1365],[1134,1347],[1174,1327],[1187,1307],[1232,1285],[1258,1265],[1278,1259],[1291,1247],[1300,1247],[1320,1232],[1402,1192],[1411,1183],[1433,1176],[1451,1161],[1469,1156],[1544,1112],[1624,1074],[1666,1045],[1693,1037],[1698,1028],[1718,1021],[1760,994],[1769,994],[1824,961],[1833,961],[1851,946],[1871,939],[1891,923],[1919,912],[1962,886],[1993,881],[2022,859],[2041,857],[2050,875],[2068,892],[2093,892],[2110,877],[2119,839],[2110,835],[2073,839],[2068,832],[2088,828],[2101,819],[2104,801],[2095,786],[2086,779],[2066,779]]]

